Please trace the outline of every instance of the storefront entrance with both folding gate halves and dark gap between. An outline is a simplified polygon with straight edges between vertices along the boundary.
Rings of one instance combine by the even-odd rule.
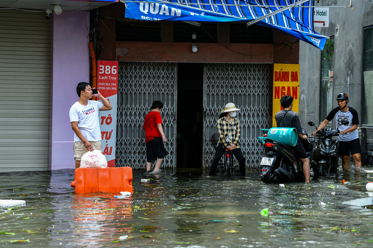
[[[164,168],[209,167],[215,154],[209,142],[221,109],[235,103],[240,146],[248,169],[258,169],[261,128],[269,123],[269,65],[224,63],[120,62],[116,167],[146,164],[144,117],[154,100],[168,142]]]

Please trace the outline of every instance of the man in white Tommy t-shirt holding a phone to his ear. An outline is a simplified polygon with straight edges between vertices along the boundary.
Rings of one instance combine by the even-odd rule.
[[[99,111],[112,108],[110,102],[98,91],[93,94],[88,82],[80,82],[77,86],[79,101],[73,104],[69,111],[71,126],[74,130],[75,168],[80,167],[84,153],[93,150],[101,151],[101,131]],[[99,101],[90,101],[93,96]]]

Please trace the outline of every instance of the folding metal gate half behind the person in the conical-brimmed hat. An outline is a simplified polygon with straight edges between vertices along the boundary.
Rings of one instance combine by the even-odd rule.
[[[217,132],[220,111],[228,102],[240,112],[240,146],[246,167],[258,169],[263,146],[258,143],[261,128],[269,120],[269,65],[266,64],[205,64],[204,66],[204,167],[208,167],[215,151],[209,142]]]

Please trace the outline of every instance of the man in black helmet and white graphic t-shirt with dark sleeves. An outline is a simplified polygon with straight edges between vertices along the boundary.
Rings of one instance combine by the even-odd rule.
[[[340,134],[338,136],[339,141],[339,156],[342,157],[342,168],[343,170],[349,169],[349,152],[351,151],[352,156],[355,161],[356,169],[361,168],[361,147],[359,141],[359,132],[358,132],[358,124],[359,124],[359,116],[355,108],[348,106],[348,96],[346,93],[340,93],[337,96],[338,107],[332,109],[332,111],[327,116],[317,130],[321,130],[324,128],[331,120],[335,120],[336,127],[339,126]],[[342,125],[342,121],[347,120],[348,125]],[[316,131],[312,133],[313,135],[316,134]]]

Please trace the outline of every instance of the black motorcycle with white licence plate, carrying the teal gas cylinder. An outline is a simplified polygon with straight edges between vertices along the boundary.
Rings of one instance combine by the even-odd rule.
[[[303,129],[303,133],[307,133]],[[309,140],[302,140],[310,159],[310,180],[319,177],[317,163],[313,160],[316,148]],[[273,140],[265,140],[265,155],[260,163],[264,183],[304,182],[303,164],[296,158],[292,147]]]

